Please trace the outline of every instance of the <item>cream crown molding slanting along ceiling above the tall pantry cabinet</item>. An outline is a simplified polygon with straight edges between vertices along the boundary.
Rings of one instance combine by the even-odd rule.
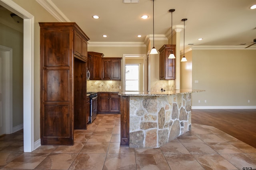
[[[44,9],[46,9],[54,18],[60,22],[70,22],[70,20],[61,12],[61,10],[51,0],[36,0]]]

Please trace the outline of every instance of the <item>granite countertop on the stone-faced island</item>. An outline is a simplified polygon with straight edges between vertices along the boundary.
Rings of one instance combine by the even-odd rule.
[[[194,90],[194,89],[180,89],[180,90],[170,90],[165,92],[119,92],[120,96],[171,96],[178,94],[189,94],[189,93],[197,93],[204,92],[205,90]]]

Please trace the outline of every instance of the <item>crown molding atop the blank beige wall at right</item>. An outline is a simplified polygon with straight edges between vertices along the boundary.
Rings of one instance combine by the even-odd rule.
[[[192,50],[256,50],[255,47],[246,48],[246,45],[194,45]]]

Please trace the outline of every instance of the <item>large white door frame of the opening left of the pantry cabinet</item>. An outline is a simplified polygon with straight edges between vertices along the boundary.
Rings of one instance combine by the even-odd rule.
[[[34,16],[11,0],[0,5],[23,18],[23,142],[24,152],[34,150]]]

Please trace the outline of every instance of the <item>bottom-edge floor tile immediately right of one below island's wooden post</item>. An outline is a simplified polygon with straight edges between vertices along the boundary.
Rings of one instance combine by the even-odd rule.
[[[163,154],[136,154],[137,170],[170,170]]]

